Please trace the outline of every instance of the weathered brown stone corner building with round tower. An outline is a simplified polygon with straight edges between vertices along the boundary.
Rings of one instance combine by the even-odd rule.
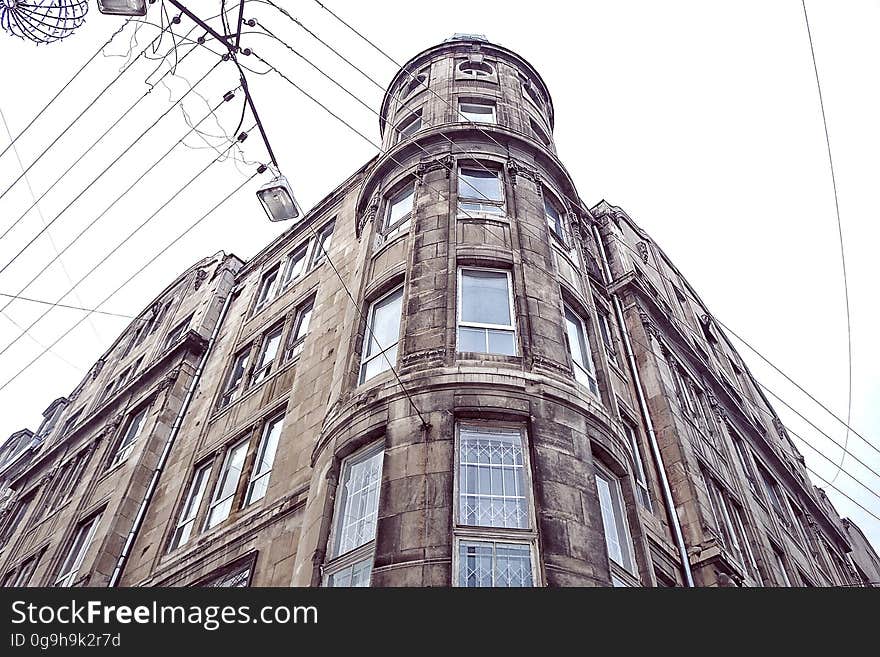
[[[4,585],[877,581],[687,281],[580,200],[528,62],[456,35],[381,117],[9,439]]]

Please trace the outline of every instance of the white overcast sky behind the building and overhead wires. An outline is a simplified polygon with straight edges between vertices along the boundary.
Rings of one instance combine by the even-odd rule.
[[[219,2],[190,3],[210,15]],[[312,0],[280,0],[293,15],[334,44],[382,85],[396,67],[372,51]],[[0,109],[18,134],[73,75],[121,19],[102,16],[94,3],[86,24],[67,40],[36,47],[0,34]],[[617,2],[511,2],[446,0],[439,5],[372,0],[332,0],[337,10],[397,61],[449,37],[477,32],[534,64],[550,87],[556,108],[559,155],[582,197],[623,207],[666,250],[712,312],[768,355],[779,367],[834,410],[846,416],[846,322],[841,263],[825,138],[798,0],[737,3],[667,0]],[[433,11],[437,7],[438,11]],[[880,2],[808,0],[810,22],[828,114],[840,192],[852,306],[853,397],[851,425],[880,447]],[[334,79],[378,109],[381,92],[324,50],[308,34],[265,4],[250,2],[256,17]],[[150,19],[158,19],[153,6]],[[216,22],[215,22],[216,24]],[[177,30],[191,27],[186,19]],[[198,34],[193,32],[193,35]],[[145,26],[134,52],[156,34]],[[125,55],[131,26],[106,50]],[[376,116],[309,69],[269,38],[246,35],[243,43],[318,96],[374,141]],[[162,43],[159,54],[170,44]],[[183,54],[189,49],[181,46]],[[124,57],[98,58],[18,141],[27,166],[110,82]],[[245,58],[255,69],[264,67]],[[71,164],[76,166],[0,243],[3,267],[97,176],[141,131],[197,81],[215,59],[198,49],[139,103],[89,155],[82,153],[144,93],[144,79],[159,62],[139,60],[36,164],[28,180],[42,194]],[[161,69],[159,75],[166,69]],[[306,100],[274,73],[250,75],[253,95],[283,172],[300,202],[310,207],[375,149]],[[184,107],[198,120],[209,104],[237,85],[233,67],[218,67]],[[223,128],[238,123],[241,95],[219,111]],[[250,118],[245,126],[250,125]],[[202,126],[212,134],[212,120]],[[0,272],[0,292],[19,290],[57,251],[143,178],[98,221],[59,263],[30,285],[24,296],[57,301],[135,226],[214,157],[196,137],[144,177],[144,171],[187,130],[179,109],[153,128],[13,264]],[[0,124],[0,150],[8,137]],[[214,143],[219,143],[216,140]],[[244,157],[265,160],[252,133]],[[225,161],[210,168],[151,220],[128,244],[86,278],[63,303],[94,306],[171,239],[207,211],[253,166]],[[0,192],[21,173],[14,151],[0,158]],[[248,258],[285,226],[270,224],[257,205],[252,181],[220,211],[159,258],[102,306],[135,315],[195,260],[219,250]],[[11,225],[33,198],[22,180],[0,199],[0,230]],[[61,266],[63,263],[63,266]],[[0,297],[0,308],[8,300]],[[0,316],[0,435],[36,428],[49,402],[66,395],[128,320],[93,315],[12,382],[6,382],[65,333],[83,313],[54,309],[7,348],[45,311],[16,301]],[[834,440],[842,426],[741,349],[753,373],[784,396]],[[791,428],[821,454],[837,461],[841,451],[784,408]],[[807,464],[830,478],[835,467],[800,441]],[[849,449],[880,471],[880,453],[855,435]],[[868,488],[880,478],[847,457],[844,469]],[[820,480],[814,477],[816,483]],[[846,473],[835,480],[847,495],[880,515],[880,499]],[[833,489],[829,495],[880,546],[880,521]]]

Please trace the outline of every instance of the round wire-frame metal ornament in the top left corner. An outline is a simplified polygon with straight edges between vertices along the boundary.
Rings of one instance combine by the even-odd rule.
[[[0,0],[0,27],[22,39],[52,43],[70,36],[87,13],[88,0]]]

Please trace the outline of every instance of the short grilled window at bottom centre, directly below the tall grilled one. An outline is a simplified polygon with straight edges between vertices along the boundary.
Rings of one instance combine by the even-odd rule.
[[[458,544],[458,585],[467,587],[534,586],[531,546],[501,541]]]

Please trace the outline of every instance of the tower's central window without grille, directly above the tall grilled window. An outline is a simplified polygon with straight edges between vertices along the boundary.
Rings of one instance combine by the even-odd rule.
[[[516,355],[510,273],[459,270],[458,351]]]

